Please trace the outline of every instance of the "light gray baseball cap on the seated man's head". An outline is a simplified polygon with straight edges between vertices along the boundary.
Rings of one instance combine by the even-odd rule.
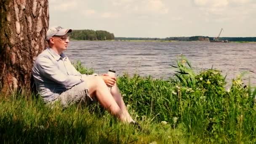
[[[58,35],[58,36],[66,35],[69,32],[72,32],[72,29],[64,29],[62,27],[51,27],[46,32],[46,40],[50,40],[50,38],[53,37],[54,35]]]

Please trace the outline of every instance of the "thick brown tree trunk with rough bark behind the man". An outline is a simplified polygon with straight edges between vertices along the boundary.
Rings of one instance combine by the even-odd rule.
[[[31,90],[31,70],[47,45],[48,24],[48,0],[0,0],[0,93]]]

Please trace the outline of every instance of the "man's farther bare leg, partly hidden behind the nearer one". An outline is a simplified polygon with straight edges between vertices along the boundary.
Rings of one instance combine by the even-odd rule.
[[[115,101],[117,102],[118,106],[120,107],[120,109],[122,110],[123,114],[125,115],[125,117],[127,117],[127,121],[130,122],[134,122],[134,120],[132,119],[131,115],[128,113],[126,107],[125,107],[125,103],[123,102],[123,98],[122,95],[119,91],[119,88],[117,87],[117,84],[115,83],[115,85],[111,88],[111,94],[114,97]]]

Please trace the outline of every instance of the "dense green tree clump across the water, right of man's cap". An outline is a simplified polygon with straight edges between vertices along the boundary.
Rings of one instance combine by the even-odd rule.
[[[113,33],[104,30],[73,30],[69,37],[75,40],[114,40],[115,35]]]

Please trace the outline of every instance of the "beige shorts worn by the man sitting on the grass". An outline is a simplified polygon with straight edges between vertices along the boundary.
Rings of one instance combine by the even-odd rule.
[[[60,101],[60,104],[63,107],[68,107],[72,104],[88,104],[91,103],[93,99],[89,96],[86,82],[83,82],[62,92],[57,99],[50,102],[50,105],[53,105],[56,101]]]

